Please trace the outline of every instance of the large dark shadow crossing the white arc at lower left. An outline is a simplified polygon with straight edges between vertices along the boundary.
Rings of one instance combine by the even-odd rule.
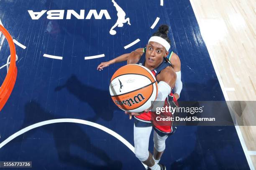
[[[44,108],[37,102],[31,101],[26,103],[23,128],[34,124],[35,122],[52,119],[56,119],[56,117],[51,112],[44,110]],[[59,160],[64,164],[93,170],[119,170],[122,168],[122,163],[120,161],[111,160],[108,154],[104,150],[97,148],[91,142],[90,137],[84,130],[75,123],[55,123],[52,125],[45,125],[41,128],[53,136]],[[81,152],[86,152],[90,157],[91,155],[94,155],[100,160],[100,164],[104,163],[104,165],[100,165],[97,162],[91,163],[87,161],[86,155],[80,157],[72,154],[70,151],[71,146],[78,147]],[[49,154],[51,154],[51,152],[53,151],[49,151]]]

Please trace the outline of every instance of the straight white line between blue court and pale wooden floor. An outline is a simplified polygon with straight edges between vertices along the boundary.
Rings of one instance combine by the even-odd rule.
[[[195,13],[195,16],[196,16],[196,18],[197,18],[197,22],[198,22],[199,27],[200,27],[200,25],[202,25],[202,24],[200,23],[200,20],[198,20],[199,17],[198,17],[197,11],[195,10],[195,5],[194,5],[193,1],[191,1],[191,0],[190,0],[190,3],[191,3],[191,5],[192,5],[193,11],[194,11],[194,13]],[[228,93],[225,91],[225,87],[224,87],[223,81],[221,80],[220,72],[219,72],[218,67],[217,67],[217,64],[216,64],[216,62],[215,62],[215,60],[214,60],[213,54],[212,54],[212,52],[211,52],[211,50],[210,50],[210,48],[208,47],[208,45],[207,45],[206,42],[205,42],[205,45],[206,45],[207,50],[208,50],[208,52],[209,52],[210,59],[212,60],[212,65],[213,65],[213,68],[214,68],[214,70],[215,70],[215,73],[216,73],[216,75],[217,75],[217,77],[218,77],[218,80],[219,80],[219,83],[220,83],[220,87],[221,87],[221,90],[222,90],[223,95],[224,95],[224,97],[225,97],[225,100],[226,100],[226,101],[230,101],[229,98],[228,98]],[[230,114],[231,114],[231,113],[230,113]],[[233,117],[233,116],[231,115],[231,117]],[[245,154],[245,156],[246,156],[246,160],[247,160],[247,162],[248,162],[248,165],[249,165],[249,167],[250,167],[251,170],[255,170],[254,167],[253,167],[253,163],[252,163],[252,161],[251,161],[251,157],[250,157],[250,155],[248,154],[248,150],[247,150],[246,144],[245,144],[245,142],[244,142],[244,139],[243,139],[243,135],[242,135],[242,133],[241,133],[241,130],[240,130],[239,126],[235,126],[235,128],[236,128],[236,132],[237,132],[238,138],[239,138],[239,140],[240,140],[240,143],[241,143],[241,145],[242,145],[243,152],[244,152],[244,154]]]

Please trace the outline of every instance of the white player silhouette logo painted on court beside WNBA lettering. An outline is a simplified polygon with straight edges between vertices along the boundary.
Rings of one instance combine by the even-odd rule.
[[[123,27],[123,23],[128,23],[128,25],[131,25],[130,23],[130,18],[126,18],[125,19],[125,12],[123,11],[123,9],[115,2],[115,0],[112,0],[112,2],[114,3],[114,6],[117,10],[117,15],[118,15],[118,20],[116,21],[115,25],[113,25],[113,27],[110,29],[109,33],[111,35],[115,35],[116,31],[113,30],[114,28],[116,28],[116,26],[118,27]]]

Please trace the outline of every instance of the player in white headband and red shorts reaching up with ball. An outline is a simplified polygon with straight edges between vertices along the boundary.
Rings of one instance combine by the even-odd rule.
[[[156,100],[164,101],[161,107],[169,105],[169,98],[172,87],[177,79],[177,74],[174,72],[173,65],[166,58],[169,54],[170,40],[167,32],[167,25],[161,25],[159,30],[149,39],[146,47],[146,52],[134,51],[128,55],[127,64],[139,64],[147,67],[156,77],[158,81],[158,96]],[[124,56],[120,56],[116,62],[123,60]],[[180,67],[180,66],[179,66]],[[101,65],[98,70],[102,69]],[[172,94],[171,94],[172,95]],[[176,100],[172,95],[173,100]],[[158,106],[159,107],[159,106]],[[150,170],[166,170],[165,166],[159,164],[160,158],[164,153],[165,140],[172,134],[172,122],[169,126],[153,125],[154,127],[154,153],[148,151],[149,137],[152,131],[153,114],[149,110],[141,113],[128,113],[130,117],[135,117],[134,122],[134,145],[136,157],[148,166]],[[169,115],[172,115],[171,113]]]

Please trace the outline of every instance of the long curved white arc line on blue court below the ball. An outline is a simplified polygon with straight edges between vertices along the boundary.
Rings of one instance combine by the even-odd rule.
[[[120,140],[120,142],[122,142],[125,146],[127,146],[134,153],[133,145],[131,145],[127,140],[125,140],[122,136],[115,133],[113,130],[110,130],[109,128],[106,128],[105,126],[99,125],[97,123],[90,122],[87,120],[81,120],[81,119],[53,119],[53,120],[46,120],[43,122],[38,122],[36,124],[30,125],[24,129],[19,130],[18,132],[11,135],[9,138],[5,139],[2,143],[0,143],[0,149],[3,148],[4,145],[9,143],[14,138],[18,137],[19,135],[22,135],[23,133],[28,132],[29,130],[38,128],[40,126],[49,125],[49,124],[53,124],[53,123],[61,123],[61,122],[80,123],[80,124],[89,125],[89,126],[98,128],[100,130],[103,130],[104,132],[106,132],[106,133],[112,135],[113,137],[117,138],[118,140]],[[146,165],[143,164],[143,166],[145,168],[147,168]]]

